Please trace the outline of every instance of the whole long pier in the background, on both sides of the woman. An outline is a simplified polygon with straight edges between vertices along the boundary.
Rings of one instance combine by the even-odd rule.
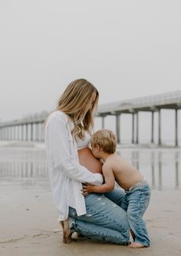
[[[158,145],[162,145],[161,119],[162,109],[173,109],[175,112],[175,141],[177,147],[179,141],[178,130],[178,111],[181,109],[181,90],[172,93],[163,93],[153,96],[145,96],[136,99],[128,99],[107,103],[98,106],[97,117],[101,118],[101,126],[105,127],[105,117],[115,116],[117,143],[120,141],[120,120],[121,114],[127,113],[132,119],[132,140],[131,143],[139,144],[139,113],[150,113],[151,133],[150,143],[154,143],[154,114],[158,113]],[[26,116],[20,120],[12,120],[0,123],[0,140],[25,140],[25,141],[43,141],[44,140],[44,121],[48,112]]]

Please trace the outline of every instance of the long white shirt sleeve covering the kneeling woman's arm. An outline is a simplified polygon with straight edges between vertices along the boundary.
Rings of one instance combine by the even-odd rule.
[[[54,170],[64,173],[67,177],[80,182],[98,185],[103,183],[100,173],[91,173],[71,156],[70,139],[64,118],[53,116],[45,127],[48,139],[48,154]]]

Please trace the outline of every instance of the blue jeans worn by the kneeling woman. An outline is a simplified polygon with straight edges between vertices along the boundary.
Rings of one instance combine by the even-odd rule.
[[[129,243],[127,214],[120,207],[123,197],[124,191],[120,188],[105,194],[88,194],[85,197],[87,214],[77,216],[75,209],[69,207],[71,231],[97,241]]]

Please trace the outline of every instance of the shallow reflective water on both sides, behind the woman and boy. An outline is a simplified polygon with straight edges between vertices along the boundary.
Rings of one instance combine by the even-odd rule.
[[[180,148],[123,148],[117,153],[143,173],[152,189],[180,189]],[[51,190],[44,148],[0,147],[0,185]]]

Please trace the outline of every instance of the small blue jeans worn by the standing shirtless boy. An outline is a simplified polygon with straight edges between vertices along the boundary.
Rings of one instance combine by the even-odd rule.
[[[130,224],[130,229],[135,235],[135,241],[150,246],[150,238],[146,230],[146,223],[143,221],[143,214],[146,211],[150,201],[150,187],[146,180],[140,184],[136,184],[123,198],[121,207],[127,211],[127,220]]]

